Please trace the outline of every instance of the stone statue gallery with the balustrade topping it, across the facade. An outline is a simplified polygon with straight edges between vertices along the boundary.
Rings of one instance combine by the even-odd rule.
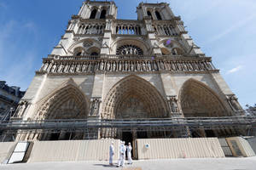
[[[122,58],[123,57],[123,58]],[[131,56],[130,56],[131,57]],[[93,58],[93,59],[92,59]],[[38,73],[94,73],[96,71],[171,71],[171,72],[202,72],[218,71],[212,65],[209,57],[143,57],[110,55],[104,57],[49,57],[44,58],[44,64]]]

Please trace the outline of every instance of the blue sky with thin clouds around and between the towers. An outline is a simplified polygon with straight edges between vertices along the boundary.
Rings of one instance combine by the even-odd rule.
[[[0,80],[28,88],[42,58],[63,35],[83,0],[0,0]],[[141,0],[116,0],[119,19],[137,20]],[[146,2],[146,1],[143,1]],[[148,0],[170,3],[189,35],[239,98],[256,103],[255,0]]]

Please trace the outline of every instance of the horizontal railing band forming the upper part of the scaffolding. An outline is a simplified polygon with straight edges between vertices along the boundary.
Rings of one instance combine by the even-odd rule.
[[[83,129],[83,128],[256,127],[256,116],[147,118],[147,119],[69,119],[1,122],[0,130]]]

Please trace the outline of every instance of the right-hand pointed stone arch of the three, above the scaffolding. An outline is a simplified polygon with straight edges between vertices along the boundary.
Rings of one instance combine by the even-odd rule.
[[[179,102],[186,116],[230,116],[223,101],[211,88],[193,78],[183,83]]]

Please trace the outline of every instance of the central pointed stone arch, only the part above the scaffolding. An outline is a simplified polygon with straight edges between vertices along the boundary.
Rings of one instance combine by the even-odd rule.
[[[103,101],[101,116],[103,119],[166,117],[167,106],[150,82],[131,75],[110,89]]]

